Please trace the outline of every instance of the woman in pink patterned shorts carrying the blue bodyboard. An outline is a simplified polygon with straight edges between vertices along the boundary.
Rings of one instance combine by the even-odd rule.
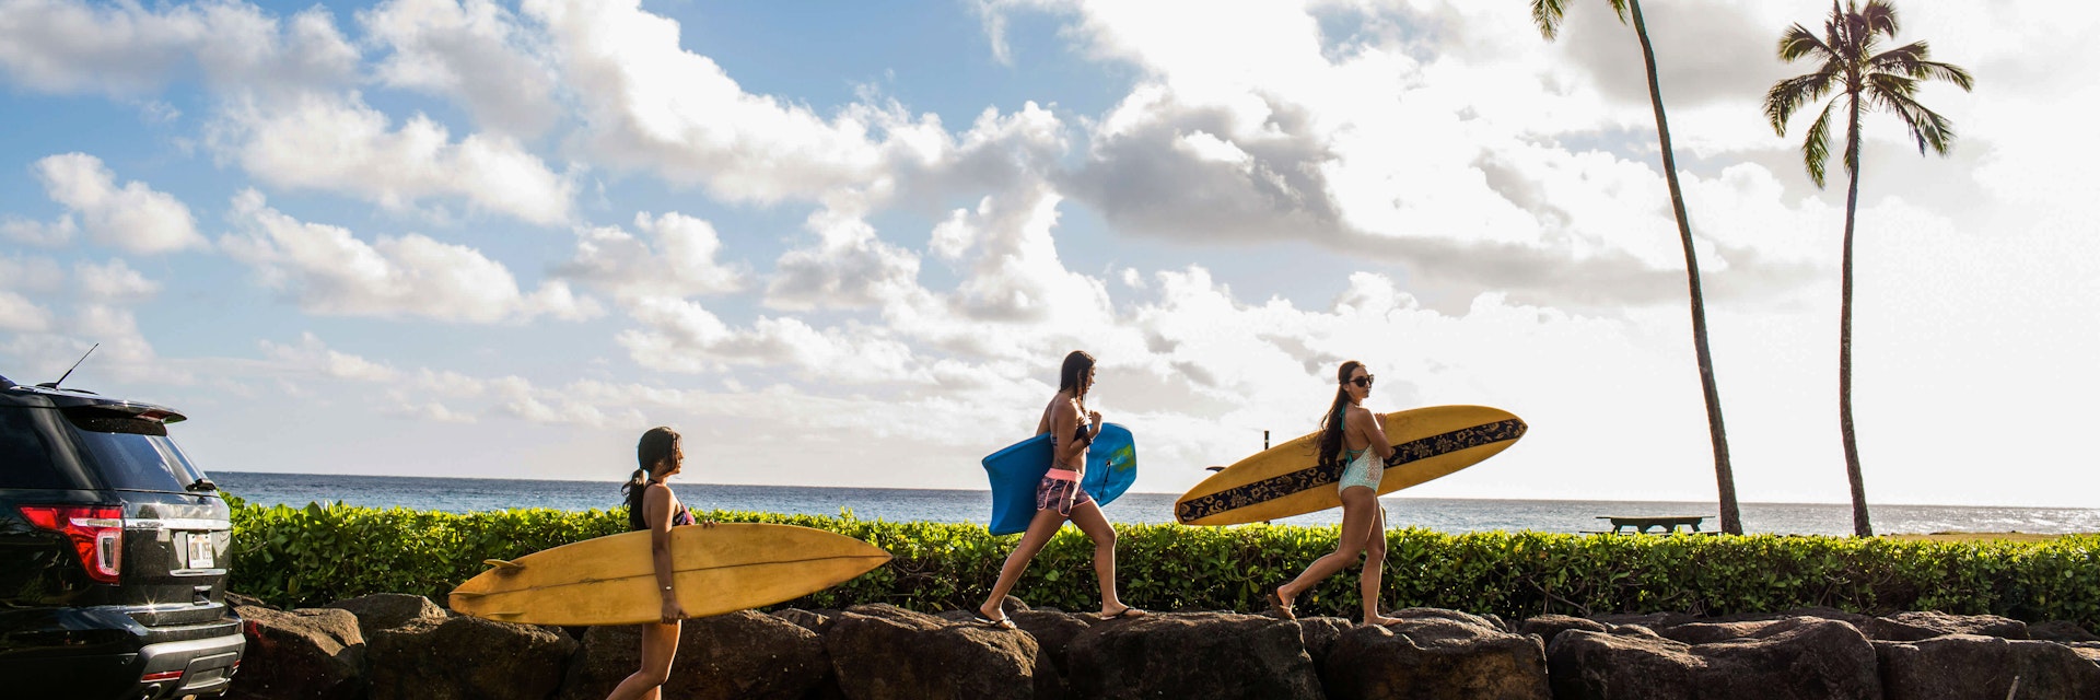
[[[1014,629],[1014,620],[1006,618],[1004,610],[1006,593],[1014,589],[1021,572],[1029,570],[1029,561],[1035,561],[1035,553],[1044,544],[1050,544],[1050,536],[1058,528],[1065,528],[1067,519],[1094,540],[1094,576],[1100,578],[1100,616],[1115,620],[1144,614],[1142,610],[1124,605],[1115,595],[1115,528],[1100,515],[1100,505],[1079,488],[1079,479],[1086,473],[1086,448],[1100,435],[1102,427],[1100,412],[1086,410],[1086,391],[1092,387],[1094,355],[1084,351],[1065,355],[1065,366],[1058,370],[1056,395],[1050,397],[1042,420],[1035,423],[1035,435],[1050,433],[1050,473],[1035,486],[1035,519],[1021,534],[1021,544],[1014,544],[1014,553],[1006,555],[1006,565],[1000,568],[1000,582],[991,586],[991,597],[983,605],[976,605],[979,624]]]

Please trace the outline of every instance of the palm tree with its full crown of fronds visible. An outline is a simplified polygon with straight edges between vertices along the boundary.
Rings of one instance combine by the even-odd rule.
[[[1926,147],[1947,156],[1955,141],[1953,122],[1919,105],[1917,84],[1924,80],[1947,80],[1970,90],[1976,80],[1953,63],[1930,61],[1926,42],[1911,42],[1898,48],[1880,50],[1882,40],[1896,38],[1896,8],[1884,0],[1867,0],[1861,8],[1856,0],[1846,0],[1838,8],[1831,0],[1831,17],[1823,23],[1823,38],[1802,25],[1789,27],[1779,38],[1779,57],[1787,63],[1798,59],[1819,61],[1816,69],[1772,84],[1764,92],[1764,116],[1772,130],[1787,135],[1787,118],[1806,103],[1831,95],[1823,114],[1808,126],[1802,141],[1802,164],[1808,179],[1823,187],[1823,164],[1829,160],[1831,109],[1844,101],[1846,137],[1844,170],[1852,183],[1844,200],[1844,271],[1840,273],[1838,313],[1838,429],[1844,435],[1844,469],[1852,479],[1852,534],[1873,536],[1867,523],[1867,488],[1858,477],[1858,441],[1852,437],[1852,219],[1858,212],[1858,116],[1869,109],[1896,114],[1911,137],[1917,139],[1917,153]]]

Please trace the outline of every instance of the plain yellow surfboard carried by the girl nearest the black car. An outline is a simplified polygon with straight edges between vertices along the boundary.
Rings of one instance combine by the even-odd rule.
[[[880,547],[813,528],[769,523],[670,530],[674,591],[687,616],[773,605],[861,576]],[[521,624],[636,624],[664,610],[649,532],[571,542],[494,568],[452,591],[458,614]]]

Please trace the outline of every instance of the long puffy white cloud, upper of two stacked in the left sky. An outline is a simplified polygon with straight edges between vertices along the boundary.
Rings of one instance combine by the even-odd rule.
[[[359,95],[235,101],[210,135],[252,177],[296,189],[340,191],[407,210],[430,198],[538,225],[569,221],[575,183],[502,135],[452,141],[414,116],[399,128]]]

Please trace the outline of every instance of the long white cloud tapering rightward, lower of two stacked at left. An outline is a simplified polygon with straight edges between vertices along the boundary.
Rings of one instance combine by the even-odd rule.
[[[349,229],[277,212],[252,189],[233,198],[231,217],[239,233],[220,238],[227,254],[254,267],[265,286],[296,298],[307,313],[477,324],[603,313],[565,282],[544,282],[523,294],[510,269],[479,250],[418,233],[365,244]]]

